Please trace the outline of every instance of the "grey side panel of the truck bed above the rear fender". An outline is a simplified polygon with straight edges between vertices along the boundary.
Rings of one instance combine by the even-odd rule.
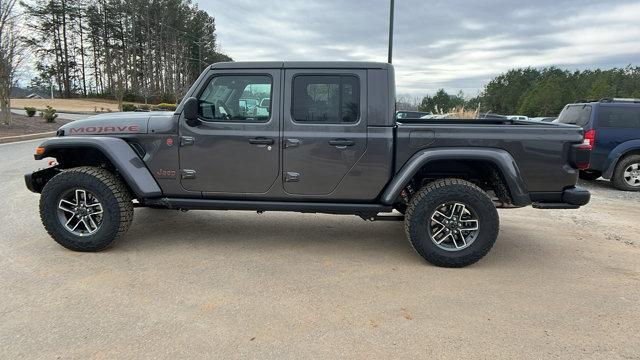
[[[496,148],[507,151],[519,169],[532,200],[553,197],[575,184],[578,171],[569,166],[573,144],[583,130],[558,123],[503,119],[402,119],[396,128],[395,163],[433,148]],[[399,171],[398,168],[395,169]]]

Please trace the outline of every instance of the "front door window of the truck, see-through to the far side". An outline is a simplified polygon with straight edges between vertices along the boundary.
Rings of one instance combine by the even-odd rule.
[[[198,115],[203,120],[265,122],[271,118],[271,77],[216,76],[198,100]]]

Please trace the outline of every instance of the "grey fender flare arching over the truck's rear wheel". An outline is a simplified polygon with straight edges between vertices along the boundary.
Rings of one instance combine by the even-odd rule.
[[[531,204],[526,186],[515,160],[507,151],[493,148],[435,148],[425,149],[413,155],[387,185],[381,202],[391,205],[413,176],[426,164],[436,160],[480,160],[496,165],[504,177],[511,200],[516,206]]]

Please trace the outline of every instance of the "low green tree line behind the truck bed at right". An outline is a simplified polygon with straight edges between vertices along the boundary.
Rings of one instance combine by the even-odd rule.
[[[451,95],[440,89],[417,103],[405,98],[398,106],[400,109],[415,104],[417,110],[433,113],[464,107],[503,115],[557,116],[566,104],[576,100],[614,97],[640,98],[640,67],[582,71],[557,67],[512,69],[493,78],[474,97],[465,97],[462,92]]]

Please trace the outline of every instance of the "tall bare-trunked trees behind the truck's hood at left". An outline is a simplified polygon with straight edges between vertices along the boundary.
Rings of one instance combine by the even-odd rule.
[[[56,96],[175,102],[206,65],[231,60],[215,20],[189,0],[31,0],[31,89]],[[52,81],[53,80],[53,81]]]

